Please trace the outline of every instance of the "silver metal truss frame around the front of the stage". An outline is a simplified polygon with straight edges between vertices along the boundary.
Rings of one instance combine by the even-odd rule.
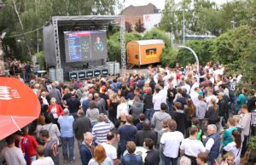
[[[66,22],[67,24],[71,21],[112,21],[118,20],[120,26],[120,46],[121,46],[121,66],[122,73],[126,71],[126,52],[125,52],[125,17],[123,15],[84,15],[84,16],[54,16],[52,17],[52,24],[54,28],[55,36],[55,58],[56,58],[56,80],[63,82],[63,69],[61,67],[61,51],[59,42],[59,26]],[[61,23],[62,21],[62,23]],[[63,26],[63,25],[62,25]]]

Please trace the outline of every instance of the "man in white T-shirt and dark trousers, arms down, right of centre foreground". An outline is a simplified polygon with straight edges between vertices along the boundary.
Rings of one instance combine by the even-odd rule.
[[[160,152],[164,156],[165,164],[177,164],[179,146],[183,141],[183,134],[176,131],[177,122],[170,120],[168,122],[170,131],[164,133],[160,139]]]

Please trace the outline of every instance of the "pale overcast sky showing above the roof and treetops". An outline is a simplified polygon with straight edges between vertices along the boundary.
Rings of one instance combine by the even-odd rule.
[[[180,2],[181,0],[176,0],[176,2]],[[221,3],[227,3],[227,1],[230,0],[210,0],[212,2],[215,2],[217,4]],[[130,6],[131,4],[133,6],[142,6],[146,5],[148,3],[153,3],[158,9],[164,9],[165,7],[165,0],[125,0],[125,8]]]

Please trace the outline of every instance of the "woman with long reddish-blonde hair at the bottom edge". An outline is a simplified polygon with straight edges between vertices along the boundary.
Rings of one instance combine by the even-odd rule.
[[[102,145],[95,147],[93,155],[88,165],[113,165],[112,159],[107,157],[106,151]]]

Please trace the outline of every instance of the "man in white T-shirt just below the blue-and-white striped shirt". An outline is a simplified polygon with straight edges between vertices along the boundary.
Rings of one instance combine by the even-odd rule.
[[[102,143],[101,145],[104,147],[107,156],[111,158],[113,162],[117,162],[117,151],[116,151],[116,148],[113,146],[114,141],[115,141],[115,134],[113,132],[109,132],[107,134],[107,142]]]

